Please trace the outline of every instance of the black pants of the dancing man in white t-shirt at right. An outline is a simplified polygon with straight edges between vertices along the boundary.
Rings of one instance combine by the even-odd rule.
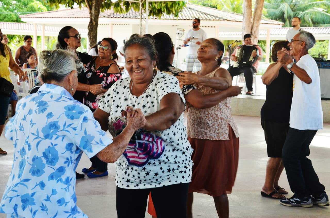
[[[307,158],[310,154],[309,145],[316,132],[290,127],[283,145],[282,161],[293,196],[297,198],[325,193],[325,187],[320,183],[312,161]]]

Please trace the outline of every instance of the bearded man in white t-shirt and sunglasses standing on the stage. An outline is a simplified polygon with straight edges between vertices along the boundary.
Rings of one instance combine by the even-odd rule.
[[[185,40],[183,43],[188,46],[187,55],[186,55],[186,71],[192,72],[194,64],[196,66],[197,71],[201,69],[202,64],[197,59],[197,50],[202,41],[207,39],[206,33],[202,30],[199,25],[201,24],[201,20],[195,18],[192,21],[192,29],[190,29],[185,36]]]

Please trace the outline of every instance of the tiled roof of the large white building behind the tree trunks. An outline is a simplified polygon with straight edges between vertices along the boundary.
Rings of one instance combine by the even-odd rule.
[[[145,14],[143,14],[146,17]],[[75,8],[75,9],[65,9],[50,12],[41,12],[35,14],[20,15],[21,18],[89,18],[89,13],[87,8]],[[100,12],[99,17],[109,17],[109,18],[140,18],[140,13],[135,12],[131,9],[128,13],[119,14],[115,13],[114,10],[106,10]],[[178,18],[173,14],[163,14],[160,19],[170,19],[170,20],[191,20],[193,18],[200,18],[201,20],[228,20],[228,21],[238,21],[242,22],[243,15],[235,14],[230,12],[224,12],[214,8],[204,7],[194,4],[186,4],[186,7],[179,13]],[[158,17],[150,16],[149,19],[159,19]],[[264,24],[281,24],[279,21],[262,19],[261,23]]]

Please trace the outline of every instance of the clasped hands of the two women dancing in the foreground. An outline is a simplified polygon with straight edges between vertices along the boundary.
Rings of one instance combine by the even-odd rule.
[[[144,127],[147,123],[140,108],[134,109],[132,106],[126,106],[125,110],[121,112],[121,116],[126,118],[127,126],[130,125],[135,130]]]

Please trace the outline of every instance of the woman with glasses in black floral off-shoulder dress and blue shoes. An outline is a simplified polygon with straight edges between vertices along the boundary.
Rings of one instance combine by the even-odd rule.
[[[94,112],[98,107],[98,101],[103,94],[121,78],[118,65],[114,61],[117,58],[116,49],[117,42],[112,38],[104,38],[98,47],[98,57],[94,57],[91,62],[86,65],[85,72],[87,84],[102,84],[100,91],[86,92],[84,104]],[[90,158],[92,166],[83,168],[82,172],[87,173],[87,177],[103,177],[108,175],[108,163],[101,161],[97,156]]]

